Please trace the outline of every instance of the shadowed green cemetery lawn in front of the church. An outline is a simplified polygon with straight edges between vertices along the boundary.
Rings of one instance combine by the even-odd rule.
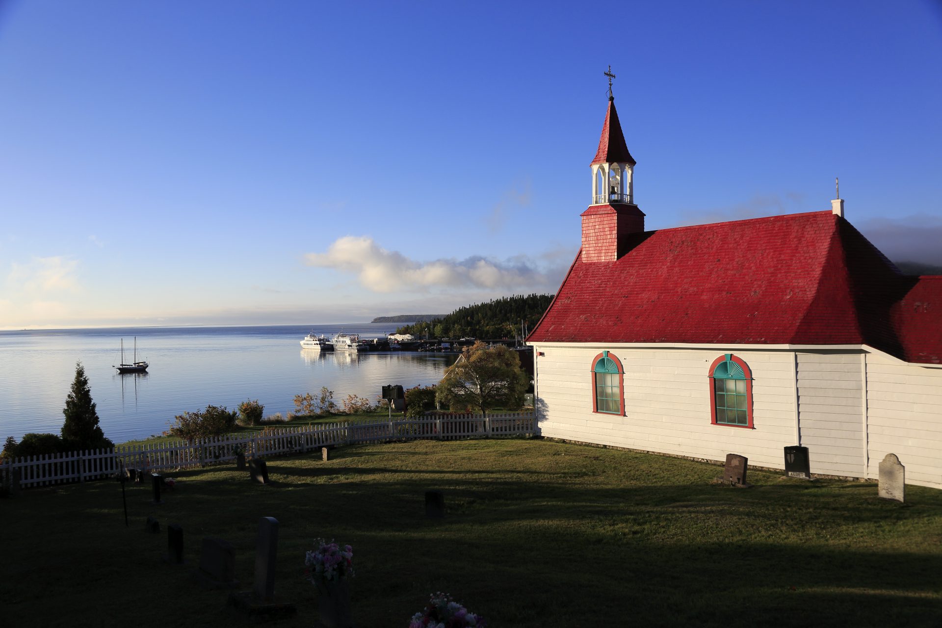
[[[414,442],[268,459],[272,486],[235,466],[173,473],[165,503],[94,482],[0,501],[0,625],[232,625],[226,593],[188,570],[204,536],[235,544],[252,586],[257,520],[281,522],[278,583],[296,620],[317,618],[301,577],[318,537],[349,542],[360,628],[405,626],[436,590],[499,626],[939,626],[942,491],[805,482],[750,471],[753,489],[711,484],[718,466],[540,440]],[[424,517],[445,491],[447,518]],[[143,530],[160,520],[160,535]],[[161,561],[180,523],[186,567]]]

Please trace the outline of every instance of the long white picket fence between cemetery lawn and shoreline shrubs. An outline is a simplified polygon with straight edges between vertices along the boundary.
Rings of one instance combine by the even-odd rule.
[[[85,482],[108,477],[122,466],[147,472],[199,467],[235,460],[235,448],[247,457],[304,454],[328,445],[383,443],[391,441],[445,440],[528,435],[534,432],[533,411],[445,416],[385,421],[382,423],[331,423],[303,427],[273,427],[252,436],[235,435],[193,443],[176,441],[117,446],[113,449],[74,451],[7,459],[0,464],[0,485],[7,485],[18,471],[22,488]]]

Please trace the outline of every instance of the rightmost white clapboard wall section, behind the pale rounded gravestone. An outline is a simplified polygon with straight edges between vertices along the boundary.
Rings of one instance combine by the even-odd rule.
[[[868,477],[896,454],[906,483],[942,488],[942,369],[867,356]]]

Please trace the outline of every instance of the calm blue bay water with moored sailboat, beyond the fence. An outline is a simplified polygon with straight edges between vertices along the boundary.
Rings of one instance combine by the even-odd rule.
[[[318,352],[300,347],[309,330],[332,336],[344,330],[372,339],[395,325],[139,328],[0,331],[0,441],[26,432],[59,433],[62,408],[85,365],[105,435],[115,443],[167,429],[173,416],[206,404],[235,409],[258,399],[265,413],[294,410],[294,395],[321,386],[338,403],[349,394],[375,400],[384,384],[437,383],[455,355],[413,352]],[[145,375],[118,375],[112,364],[151,363]]]

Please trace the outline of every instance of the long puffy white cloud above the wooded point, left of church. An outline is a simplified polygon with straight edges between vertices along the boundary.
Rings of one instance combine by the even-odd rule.
[[[370,237],[348,235],[336,240],[324,253],[304,256],[308,266],[355,273],[374,292],[429,290],[430,288],[555,289],[564,269],[541,270],[528,258],[504,262],[480,256],[463,261],[418,262],[395,250],[385,250]]]

